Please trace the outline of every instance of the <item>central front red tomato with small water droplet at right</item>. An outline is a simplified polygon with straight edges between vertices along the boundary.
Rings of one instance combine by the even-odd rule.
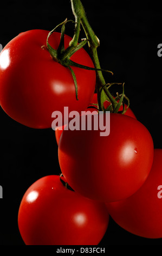
[[[59,163],[68,184],[83,196],[113,202],[131,196],[145,182],[153,162],[153,140],[138,120],[110,114],[110,134],[63,130]]]

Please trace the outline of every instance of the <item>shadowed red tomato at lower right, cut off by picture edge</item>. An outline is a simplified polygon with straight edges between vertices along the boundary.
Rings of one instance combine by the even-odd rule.
[[[162,149],[154,149],[154,159],[145,183],[131,197],[108,203],[113,220],[127,231],[146,238],[162,237]]]

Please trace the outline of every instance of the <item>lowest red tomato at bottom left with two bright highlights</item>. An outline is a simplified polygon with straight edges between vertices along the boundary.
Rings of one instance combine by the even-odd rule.
[[[59,175],[34,182],[18,211],[25,245],[98,245],[108,221],[105,204],[68,190]]]

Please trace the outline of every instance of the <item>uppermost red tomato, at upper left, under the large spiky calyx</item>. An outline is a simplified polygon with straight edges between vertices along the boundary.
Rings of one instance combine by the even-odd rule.
[[[34,29],[12,39],[0,54],[0,104],[14,120],[25,126],[51,128],[51,114],[68,106],[69,111],[85,109],[95,90],[95,71],[72,67],[78,86],[78,101],[70,70],[55,62],[46,48],[49,31]],[[49,44],[57,49],[61,33],[54,32]],[[67,48],[72,38],[65,35]],[[93,67],[81,48],[71,58]]]

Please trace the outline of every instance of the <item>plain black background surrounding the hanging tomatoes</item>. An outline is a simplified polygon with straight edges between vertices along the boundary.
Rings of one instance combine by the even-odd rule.
[[[159,3],[137,1],[82,1],[90,25],[100,39],[101,67],[114,72],[106,82],[125,82],[125,93],[137,119],[151,132],[154,148],[161,139],[162,11]],[[29,29],[51,31],[64,19],[73,19],[70,1],[11,1],[1,3],[0,43],[3,47],[18,33]],[[66,33],[73,36],[74,27]],[[57,144],[51,129],[35,130],[18,124],[0,109],[1,245],[24,245],[17,227],[22,196],[34,181],[60,174]],[[160,182],[160,181],[159,181]],[[161,181],[162,182],[162,181]],[[100,245],[160,245],[162,239],[132,235],[110,220]]]

